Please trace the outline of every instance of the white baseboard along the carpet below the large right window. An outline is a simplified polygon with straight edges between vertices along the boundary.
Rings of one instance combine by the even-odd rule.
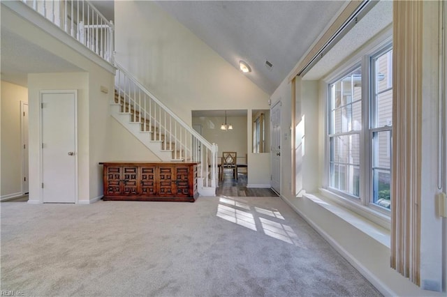
[[[283,195],[280,195],[280,197],[281,199],[283,199],[284,202],[286,202],[286,204],[288,204],[288,206],[291,206],[291,208],[293,208],[293,210],[296,213],[298,213],[298,215],[300,215],[301,218],[303,218],[309,225],[311,225],[311,227],[314,228],[315,231],[317,231],[318,234],[320,234],[325,239],[325,241],[328,241],[328,243],[332,246],[332,248],[337,250],[337,252],[341,254],[342,257],[344,257],[344,259],[346,259],[349,262],[349,264],[351,264],[354,268],[356,268],[356,270],[361,275],[363,275],[369,282],[371,282],[371,284],[376,289],[378,289],[381,292],[381,294],[383,294],[384,296],[397,296],[397,294],[395,294],[395,292],[392,289],[390,289],[390,287],[388,287],[386,284],[383,284],[383,282],[381,282],[381,280],[379,280],[376,277],[376,275],[371,273],[371,271],[369,271],[355,257],[353,257],[353,255],[350,252],[345,250],[342,247],[342,245],[339,245],[339,243],[337,243],[337,241],[335,241],[335,239],[332,238],[332,236],[330,236],[323,229],[318,227],[318,225],[315,224],[309,217],[307,217],[307,215],[302,213],[295,205],[293,205],[290,201],[288,201],[286,197],[284,197]]]

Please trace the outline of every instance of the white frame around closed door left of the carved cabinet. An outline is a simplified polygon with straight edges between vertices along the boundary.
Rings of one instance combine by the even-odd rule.
[[[43,155],[42,155],[42,141],[43,141],[43,127],[42,127],[42,98],[45,94],[73,94],[75,96],[75,204],[78,204],[78,90],[41,90],[39,91],[39,185],[43,184]],[[39,201],[43,203],[43,188],[40,188]]]

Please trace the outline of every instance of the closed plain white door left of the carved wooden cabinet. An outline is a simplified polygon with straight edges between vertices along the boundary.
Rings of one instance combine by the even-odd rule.
[[[76,92],[41,93],[42,195],[45,203],[76,201]]]

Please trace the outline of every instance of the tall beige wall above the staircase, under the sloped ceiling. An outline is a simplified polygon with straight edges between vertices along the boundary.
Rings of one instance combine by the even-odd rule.
[[[269,108],[238,59],[223,60],[152,1],[115,1],[115,32],[117,62],[186,123],[191,110]]]

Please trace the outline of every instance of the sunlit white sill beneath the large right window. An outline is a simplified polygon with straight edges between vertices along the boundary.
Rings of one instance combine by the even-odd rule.
[[[332,199],[325,197],[325,194],[327,195],[326,192],[329,192],[328,190],[321,189],[320,191],[321,194],[323,195],[306,193],[303,196],[306,197],[307,199],[314,201],[314,203],[325,208],[327,211],[330,211],[334,215],[337,215],[337,217],[351,224],[353,227],[356,227],[357,229],[365,233],[367,236],[374,238],[379,243],[390,248],[389,227],[388,228],[383,227],[380,224],[377,224],[376,222],[373,222],[372,220],[369,220],[368,218],[359,215],[358,213],[354,213],[349,208],[346,208],[340,205],[339,203],[335,203],[335,201],[333,201]],[[333,194],[330,193],[330,195]],[[367,211],[374,212],[369,209]],[[377,213],[375,215],[382,215],[382,214]],[[388,218],[388,226],[389,226],[389,218]]]

